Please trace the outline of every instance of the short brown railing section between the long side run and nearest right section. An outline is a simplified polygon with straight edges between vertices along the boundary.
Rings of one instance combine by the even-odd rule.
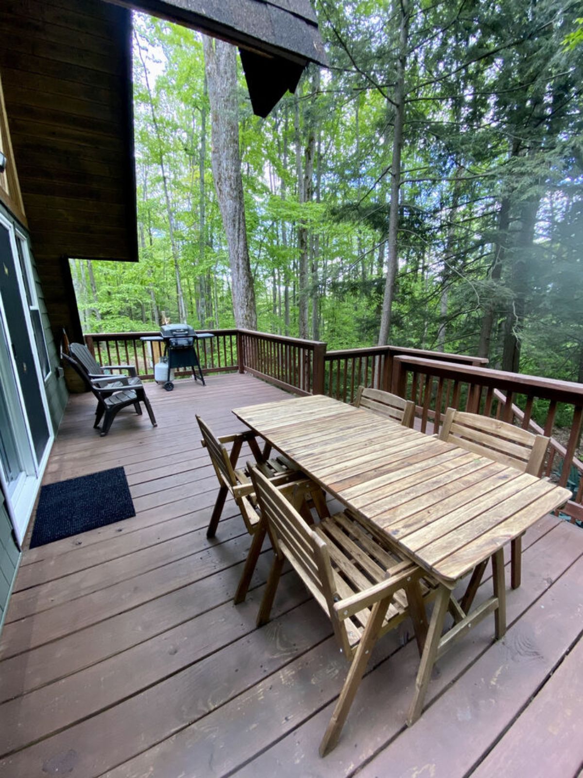
[[[329,351],[324,356],[324,394],[352,402],[363,384],[365,387],[390,391],[393,384],[393,359],[396,356],[422,356],[463,365],[486,365],[479,356],[447,354],[423,349],[401,349],[394,345],[372,346],[368,349]]]

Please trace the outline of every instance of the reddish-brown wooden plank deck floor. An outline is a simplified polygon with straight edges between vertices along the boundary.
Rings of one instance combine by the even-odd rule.
[[[159,427],[122,412],[106,438],[93,397],[69,403],[45,482],[124,465],[137,515],[24,553],[0,642],[3,778],[579,772],[583,531],[555,517],[529,531],[504,640],[487,619],[446,654],[410,729],[418,655],[410,629],[389,633],[319,759],[344,660],[294,573],[255,629],[271,552],[232,605],[249,538],[232,501],[206,538],[217,483],[194,419],[232,432],[230,408],[285,394],[238,374],[148,394]]]

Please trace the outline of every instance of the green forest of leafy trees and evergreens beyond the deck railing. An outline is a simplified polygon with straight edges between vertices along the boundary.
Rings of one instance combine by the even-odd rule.
[[[257,329],[583,382],[581,2],[315,6],[329,69],[233,87]],[[140,261],[72,260],[86,332],[236,324],[209,51],[134,16]]]

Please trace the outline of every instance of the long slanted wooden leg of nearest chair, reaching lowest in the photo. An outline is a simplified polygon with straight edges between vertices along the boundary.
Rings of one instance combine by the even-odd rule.
[[[328,724],[322,742],[319,745],[320,756],[326,756],[326,754],[330,753],[337,745],[338,738],[340,738],[340,732],[342,731],[342,727],[344,727],[344,722],[351,709],[358,686],[360,685],[362,676],[365,674],[372,647],[375,645],[379,636],[379,630],[382,627],[382,622],[385,619],[387,609],[389,608],[392,599],[392,597],[389,597],[381,600],[375,603],[372,608],[372,613],[368,619],[365,631],[362,633],[361,642],[358,644],[356,654],[354,654],[354,659],[352,660],[346,681],[344,682],[340,697],[334,708],[330,724]]]

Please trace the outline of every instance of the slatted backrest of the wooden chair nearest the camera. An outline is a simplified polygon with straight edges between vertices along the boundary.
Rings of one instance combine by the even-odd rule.
[[[323,610],[333,618],[336,592],[326,543],[257,468],[251,479],[274,552],[284,555]]]

